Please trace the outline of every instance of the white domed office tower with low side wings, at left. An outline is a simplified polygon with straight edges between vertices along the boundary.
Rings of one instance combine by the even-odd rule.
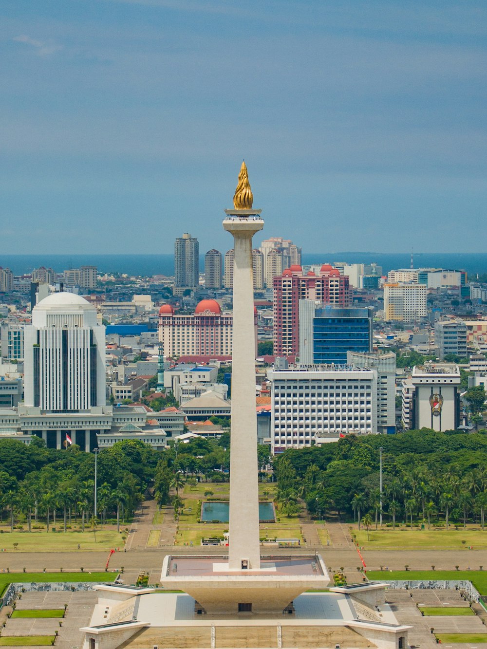
[[[162,448],[184,429],[181,411],[159,421],[162,413],[144,406],[106,405],[105,326],[79,295],[53,293],[34,306],[24,357],[24,403],[0,409],[0,436],[30,443],[38,435],[51,448],[66,448],[69,436],[90,451],[123,439]]]

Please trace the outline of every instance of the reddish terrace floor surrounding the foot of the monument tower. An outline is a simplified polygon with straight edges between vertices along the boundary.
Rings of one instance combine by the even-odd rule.
[[[168,577],[209,576],[321,576],[323,572],[316,557],[280,557],[260,559],[261,570],[225,570],[223,557],[171,557]]]

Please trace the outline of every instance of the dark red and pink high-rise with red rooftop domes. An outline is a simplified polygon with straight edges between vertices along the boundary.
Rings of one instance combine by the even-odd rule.
[[[303,275],[301,266],[293,265],[274,284],[274,355],[299,354],[299,300],[314,300],[331,306],[350,306],[349,278],[329,264],[316,275]]]

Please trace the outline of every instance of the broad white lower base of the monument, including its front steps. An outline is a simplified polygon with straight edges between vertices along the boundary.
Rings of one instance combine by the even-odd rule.
[[[185,593],[95,586],[99,604],[82,629],[83,649],[406,649],[409,627],[397,624],[384,587],[303,593],[292,614],[199,615]]]

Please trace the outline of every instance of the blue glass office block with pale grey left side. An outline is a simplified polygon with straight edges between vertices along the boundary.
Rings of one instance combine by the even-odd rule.
[[[347,352],[372,351],[372,310],[299,300],[299,361],[345,365]]]

